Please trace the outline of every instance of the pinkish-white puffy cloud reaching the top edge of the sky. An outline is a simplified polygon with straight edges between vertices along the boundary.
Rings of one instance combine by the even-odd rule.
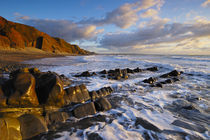
[[[128,28],[135,25],[139,20],[138,12],[141,10],[148,9],[150,7],[156,7],[160,9],[163,5],[163,0],[139,0],[135,3],[126,3],[119,8],[106,13],[104,18],[95,19],[89,18],[79,21],[79,24],[94,24],[96,26],[103,26],[107,24],[114,24],[120,28]],[[154,13],[154,10],[150,10]]]

